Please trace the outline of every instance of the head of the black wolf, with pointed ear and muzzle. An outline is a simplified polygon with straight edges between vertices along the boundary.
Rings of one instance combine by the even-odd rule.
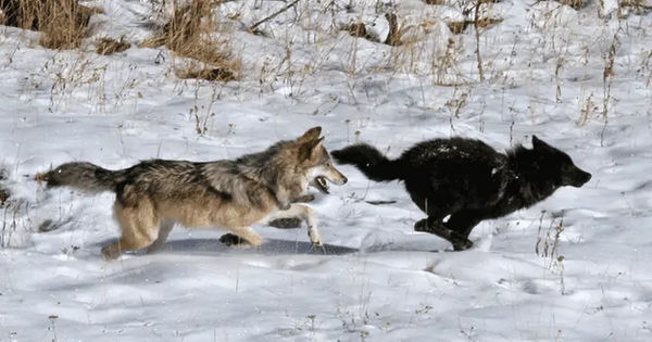
[[[532,148],[541,159],[539,165],[544,177],[554,179],[556,187],[570,186],[579,188],[591,179],[591,174],[575,166],[568,154],[548,144],[537,136],[532,136]]]

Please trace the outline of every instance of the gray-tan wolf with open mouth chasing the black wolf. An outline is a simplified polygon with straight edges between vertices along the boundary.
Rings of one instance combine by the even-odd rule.
[[[88,162],[64,163],[37,174],[47,188],[71,187],[86,193],[115,192],[114,219],[120,240],[102,249],[104,258],[147,248],[158,251],[178,223],[187,228],[226,228],[241,245],[258,246],[262,238],[251,225],[300,217],[314,245],[323,245],[309,206],[296,204],[308,187],[328,193],[327,181],[347,182],[324,148],[322,128],[294,140],[281,140],[258,153],[235,160],[189,162],[147,160],[109,170]],[[229,238],[230,237],[230,238]],[[228,244],[228,243],[227,243]]]

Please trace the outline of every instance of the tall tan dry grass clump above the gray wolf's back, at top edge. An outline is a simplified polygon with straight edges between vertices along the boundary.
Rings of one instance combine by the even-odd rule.
[[[141,47],[165,46],[177,56],[199,62],[176,69],[178,77],[239,79],[241,61],[233,56],[227,39],[215,38],[221,27],[215,23],[212,10],[221,3],[223,2],[193,0],[184,7],[175,4],[176,10],[168,22]]]

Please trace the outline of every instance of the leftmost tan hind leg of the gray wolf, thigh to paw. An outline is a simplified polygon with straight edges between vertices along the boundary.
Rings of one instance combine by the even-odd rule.
[[[102,249],[105,259],[117,258],[123,252],[138,251],[152,243],[160,218],[149,199],[139,201],[138,207],[124,207],[116,201],[113,211],[121,228],[121,237],[117,243]]]

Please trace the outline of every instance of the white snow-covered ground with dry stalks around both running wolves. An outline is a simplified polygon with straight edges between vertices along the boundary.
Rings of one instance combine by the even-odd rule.
[[[259,27],[267,38],[242,27],[286,2],[227,2],[244,75],[228,84],[175,78],[166,50],[55,52],[2,27],[0,341],[651,341],[652,13],[504,0],[482,4],[504,21],[476,41],[444,24],[464,1],[442,2],[300,1]],[[93,37],[151,34],[150,3],[90,4],[105,12]],[[384,40],[381,11],[412,43],[338,30],[362,17]],[[328,149],[363,140],[391,156],[432,137],[504,150],[536,134],[593,178],[451,252],[413,231],[424,214],[402,185],[339,166],[349,182],[311,204],[326,253],[303,227],[255,226],[265,241],[249,250],[177,227],[161,253],[109,263],[113,195],[45,197],[29,178],[73,160],[235,157],[316,125]],[[58,229],[38,232],[48,220]]]

